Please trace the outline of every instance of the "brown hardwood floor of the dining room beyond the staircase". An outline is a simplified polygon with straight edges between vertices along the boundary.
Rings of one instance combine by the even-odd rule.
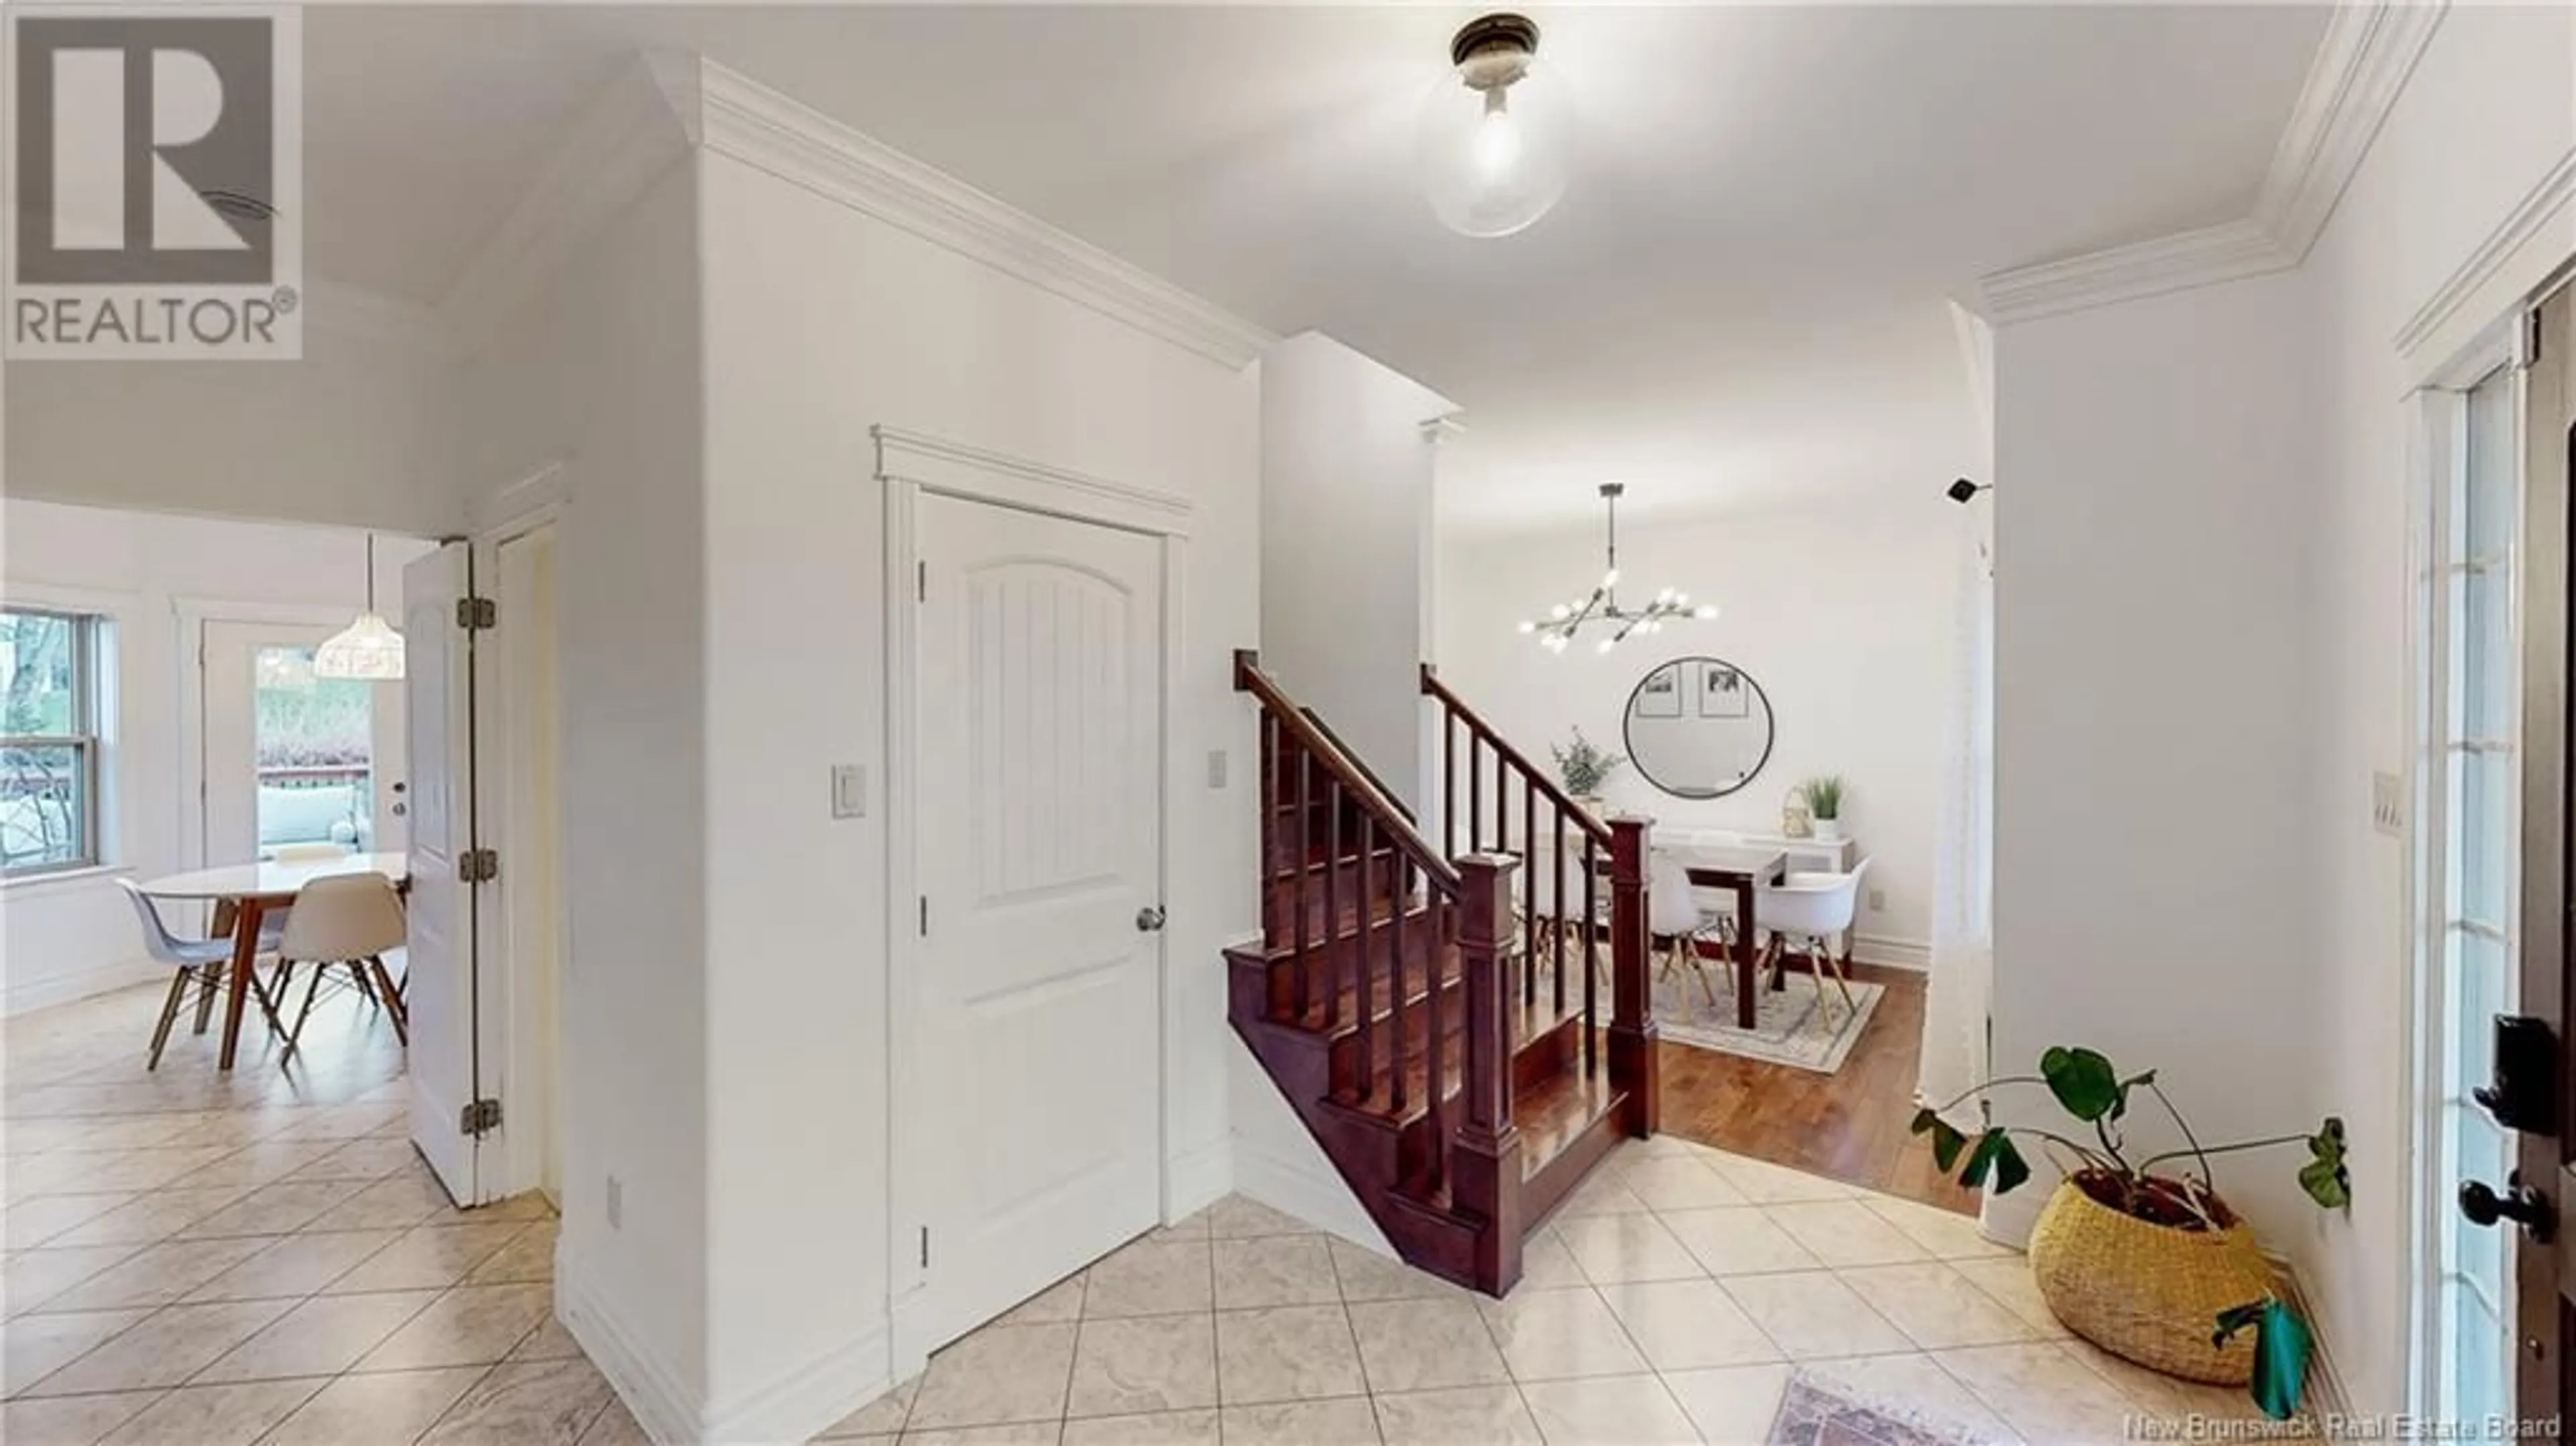
[[[1932,1144],[1906,1134],[1914,1119],[1924,977],[1875,964],[1852,964],[1852,977],[1886,985],[1888,995],[1834,1075],[1667,1039],[1662,1132],[1973,1214],[1976,1193],[1942,1178],[1932,1168]],[[1790,979],[1790,987],[1803,990],[1806,982]]]

